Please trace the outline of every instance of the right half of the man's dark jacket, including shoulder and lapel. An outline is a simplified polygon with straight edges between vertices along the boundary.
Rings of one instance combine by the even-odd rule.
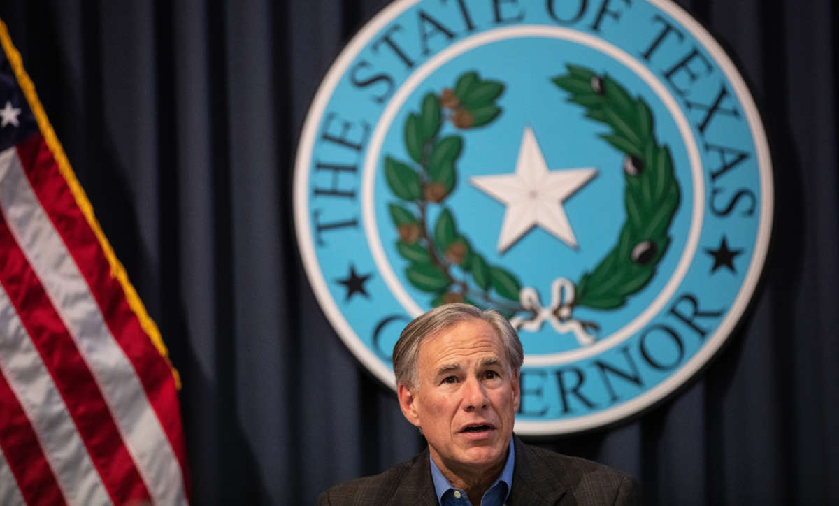
[[[513,438],[516,467],[509,504],[638,504],[638,483],[597,462],[565,456]]]

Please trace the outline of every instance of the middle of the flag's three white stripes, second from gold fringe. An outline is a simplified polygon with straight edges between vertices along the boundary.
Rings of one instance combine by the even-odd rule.
[[[0,370],[29,418],[67,502],[111,503],[64,399],[2,286],[0,329]]]

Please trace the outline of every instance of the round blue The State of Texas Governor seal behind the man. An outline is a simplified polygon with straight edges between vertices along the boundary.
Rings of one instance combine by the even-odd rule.
[[[401,328],[466,301],[524,344],[516,430],[613,423],[722,346],[769,245],[743,78],[674,3],[403,0],[332,65],[294,172],[306,273],[393,387]]]

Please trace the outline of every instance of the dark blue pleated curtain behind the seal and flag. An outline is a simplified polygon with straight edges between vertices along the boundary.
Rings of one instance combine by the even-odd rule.
[[[312,503],[423,444],[321,314],[291,217],[315,88],[384,3],[0,5],[180,369],[195,503]],[[739,63],[769,131],[777,205],[763,284],[679,394],[609,430],[534,442],[632,473],[651,504],[837,504],[839,8],[680,4]]]

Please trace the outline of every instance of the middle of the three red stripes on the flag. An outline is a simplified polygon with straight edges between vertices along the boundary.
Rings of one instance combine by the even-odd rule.
[[[102,392],[76,343],[0,216],[0,284],[50,371],[112,500],[148,500],[149,491],[122,442]]]

